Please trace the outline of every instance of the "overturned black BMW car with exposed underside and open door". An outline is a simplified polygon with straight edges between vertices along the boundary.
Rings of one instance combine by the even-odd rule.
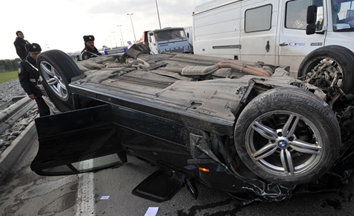
[[[134,191],[154,201],[182,184],[197,197],[193,181],[243,203],[340,187],[353,169],[354,71],[317,64],[303,81],[287,67],[192,54],[134,49],[75,63],[43,52],[39,86],[56,114],[35,120],[31,168],[78,174],[129,154],[165,168],[151,178],[165,176],[170,191],[145,190],[152,179]]]

